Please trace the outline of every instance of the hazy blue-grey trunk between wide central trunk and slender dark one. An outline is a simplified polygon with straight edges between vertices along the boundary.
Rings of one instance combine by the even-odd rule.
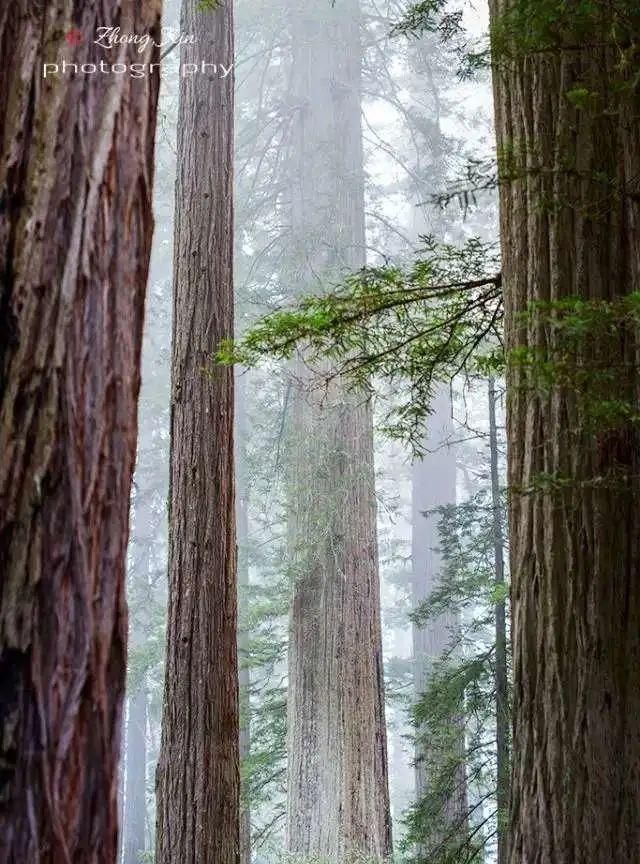
[[[429,418],[429,433],[424,442],[426,451],[412,467],[412,534],[413,565],[412,600],[420,606],[437,588],[442,559],[438,551],[438,514],[435,507],[456,502],[456,456],[448,440],[451,437],[451,398],[448,389],[441,388],[433,402]],[[416,699],[429,683],[429,669],[451,645],[459,626],[456,615],[440,615],[425,625],[413,626],[414,691]],[[460,729],[461,767],[452,782],[452,795],[447,800],[443,816],[446,823],[463,827],[468,809],[467,783],[464,766],[464,731]],[[429,788],[428,754],[424,744],[416,748],[416,795],[422,797]]]

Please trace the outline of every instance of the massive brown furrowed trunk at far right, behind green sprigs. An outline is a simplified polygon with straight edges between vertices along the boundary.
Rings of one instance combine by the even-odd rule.
[[[492,0],[494,27],[510,5]],[[573,4],[563,10],[574,14]],[[514,44],[514,59],[496,58],[506,345],[543,361],[565,343],[540,306],[523,316],[529,304],[615,301],[640,289],[640,94],[625,53],[640,39],[640,19],[633,4],[581,14],[577,45],[560,20],[554,39],[570,47],[520,58]],[[606,394],[596,392],[609,406],[636,402],[637,358],[631,326],[603,331],[573,355],[587,370],[619,370]],[[507,380],[509,860],[628,864],[640,860],[637,424],[594,427],[574,388],[532,390],[527,374],[512,364]]]

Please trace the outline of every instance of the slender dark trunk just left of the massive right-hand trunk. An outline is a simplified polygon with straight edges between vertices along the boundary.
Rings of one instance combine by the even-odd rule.
[[[489,453],[491,463],[491,504],[493,507],[493,548],[495,581],[498,590],[504,587],[504,532],[500,490],[498,427],[496,423],[495,381],[489,378]],[[509,678],[507,670],[506,601],[495,606],[496,616],[496,757],[498,789],[498,859],[507,862],[507,825],[509,811]]]

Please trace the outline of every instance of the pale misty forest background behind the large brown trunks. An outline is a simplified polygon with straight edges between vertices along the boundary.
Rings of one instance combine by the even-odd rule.
[[[165,27],[176,31],[178,6],[165,3]],[[438,34],[394,33],[403,8],[371,0],[236,4],[238,335],[305,293],[335,288],[365,264],[410,263],[426,237],[457,246],[473,237],[494,241],[491,191],[474,201],[453,196],[446,206],[438,200],[463,188],[470,163],[491,158],[490,82],[483,73],[461,80]],[[471,33],[483,32],[484,15],[484,8],[466,13]],[[178,55],[164,60],[156,147],[156,229],[128,556],[122,864],[153,860],[166,617]],[[307,122],[301,125],[303,114]],[[371,401],[364,393],[336,397],[314,383],[304,358],[237,370],[244,864],[275,864],[284,855],[291,791],[287,729],[297,722],[287,717],[287,652],[296,626],[290,606],[300,567],[291,536],[309,530],[305,513],[324,531],[323,519],[333,524],[352,506],[327,455],[336,439],[326,430],[344,400],[351,400],[358,423],[373,415],[375,484],[367,506],[375,506],[376,514],[371,542],[380,578],[394,855],[411,861],[424,853],[416,837],[428,824],[434,850],[453,826],[460,842],[476,850],[467,860],[495,860],[490,672],[494,606],[501,598],[486,586],[495,576],[492,404],[493,456],[503,485],[501,384],[460,376],[443,386],[420,456],[380,428],[397,393],[384,382],[372,382],[372,389]],[[300,404],[306,408],[296,410]],[[295,421],[300,416],[303,423]],[[347,472],[344,482],[351,485],[360,482],[358,460],[367,470],[366,441],[356,438],[345,451],[355,474]],[[317,484],[323,472],[325,482]],[[309,549],[306,554],[313,557]],[[427,610],[437,589],[440,596]],[[420,619],[412,618],[420,609]],[[304,618],[305,609],[298,614]],[[298,624],[304,629],[304,620]],[[461,699],[452,683],[460,670],[466,676]],[[421,729],[428,729],[428,745]]]

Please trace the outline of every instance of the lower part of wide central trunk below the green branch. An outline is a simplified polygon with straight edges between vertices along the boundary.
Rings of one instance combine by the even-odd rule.
[[[300,434],[318,430],[318,414]],[[380,860],[391,844],[370,416],[349,401],[322,416],[312,470],[296,475],[288,845]]]

